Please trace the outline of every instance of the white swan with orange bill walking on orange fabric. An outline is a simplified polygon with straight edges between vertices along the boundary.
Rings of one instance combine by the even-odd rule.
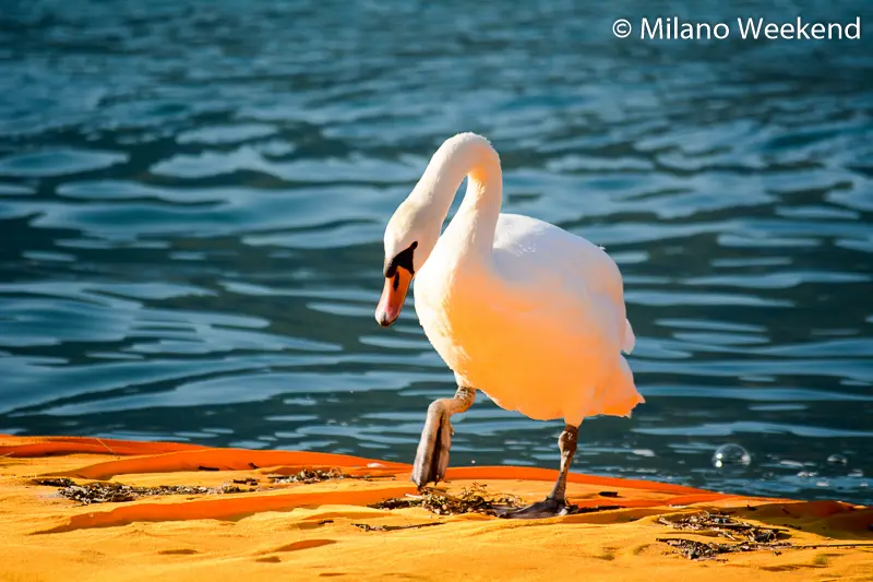
[[[464,178],[461,206],[442,233]],[[566,477],[582,420],[630,416],[644,401],[622,352],[634,347],[621,273],[598,246],[554,225],[501,214],[502,174],[476,133],[447,139],[385,228],[384,288],[375,310],[386,328],[415,278],[415,309],[452,369],[454,397],[428,407],[411,479],[438,483],[449,465],[450,418],[476,391],[533,419],[563,418],[552,492],[507,518],[564,514]]]

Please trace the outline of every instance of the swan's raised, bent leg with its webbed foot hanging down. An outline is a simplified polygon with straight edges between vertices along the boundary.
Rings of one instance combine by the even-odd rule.
[[[449,420],[453,414],[463,413],[476,400],[476,389],[459,385],[455,397],[440,399],[428,406],[428,418],[418,442],[416,463],[412,466],[412,480],[419,489],[433,482],[436,483],[445,476],[449,466],[449,448],[452,447],[452,423]]]

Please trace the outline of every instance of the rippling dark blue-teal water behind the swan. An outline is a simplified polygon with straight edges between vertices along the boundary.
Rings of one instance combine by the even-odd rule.
[[[381,235],[471,130],[625,277],[648,402],[574,468],[873,500],[871,35],[611,34],[866,3],[574,4],[4,2],[0,431],[410,461],[452,376],[414,310],[376,326]],[[560,421],[455,428],[454,464],[557,465]]]

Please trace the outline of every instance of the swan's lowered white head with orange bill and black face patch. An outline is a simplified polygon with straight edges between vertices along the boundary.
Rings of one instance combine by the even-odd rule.
[[[385,286],[375,309],[375,320],[383,328],[400,314],[406,294],[416,273],[424,266],[440,238],[442,216],[432,204],[409,197],[397,209],[385,228]]]

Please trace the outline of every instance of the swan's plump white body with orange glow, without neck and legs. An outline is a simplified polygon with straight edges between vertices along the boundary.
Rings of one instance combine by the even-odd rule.
[[[500,215],[490,257],[465,252],[464,240],[450,226],[415,288],[421,326],[461,385],[574,426],[641,402],[621,355],[634,343],[621,274],[606,252],[513,214]]]

